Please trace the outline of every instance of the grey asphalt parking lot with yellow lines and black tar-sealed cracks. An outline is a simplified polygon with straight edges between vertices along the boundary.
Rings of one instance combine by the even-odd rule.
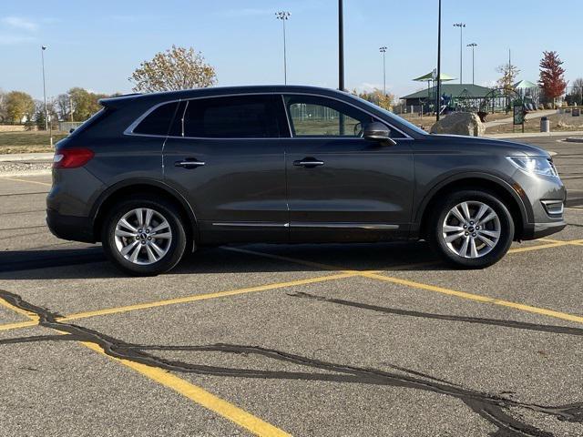
[[[2,436],[583,435],[583,145],[561,233],[494,267],[424,242],[203,249],[156,278],[0,178]]]

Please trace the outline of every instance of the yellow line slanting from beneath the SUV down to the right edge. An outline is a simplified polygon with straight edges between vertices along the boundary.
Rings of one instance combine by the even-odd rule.
[[[575,240],[575,241],[578,241],[578,240]],[[554,244],[553,247],[557,247],[557,243],[553,243],[553,244]],[[571,243],[569,242],[568,244],[571,244]],[[567,244],[562,244],[562,243],[560,244],[560,246],[566,246],[566,245]],[[547,247],[548,245],[542,245],[542,246]],[[539,247],[539,248],[543,249],[541,247]],[[226,248],[226,249],[235,249],[235,248]],[[524,249],[528,249],[528,248],[524,248]],[[296,262],[298,264],[305,264],[306,262],[312,262],[312,261],[304,261],[303,259],[293,259],[290,257],[273,255],[271,253],[257,252],[257,251],[248,250],[248,249],[237,249],[237,250],[244,251],[245,253],[249,253],[249,254],[255,254],[255,255],[260,256],[260,257],[271,258],[271,259],[281,259],[284,261]],[[328,269],[335,269],[335,270],[341,270],[341,271],[354,271],[354,270],[343,270],[342,267],[338,267],[338,266],[331,266],[331,265],[326,265],[326,264],[321,264],[321,265],[327,266]],[[358,270],[356,270],[356,271],[358,271]],[[369,278],[369,279],[383,280],[385,282],[392,282],[394,284],[403,285],[405,287],[410,287],[410,288],[414,288],[414,289],[418,289],[418,290],[434,291],[434,292],[446,294],[449,296],[455,296],[457,298],[462,298],[462,299],[466,299],[466,300],[475,300],[475,301],[482,302],[482,303],[490,303],[490,304],[494,304],[494,305],[498,305],[498,306],[512,308],[514,310],[522,310],[522,311],[532,312],[532,313],[536,313],[536,314],[540,314],[540,315],[545,315],[548,317],[553,317],[556,319],[575,321],[577,323],[583,323],[583,317],[576,316],[574,314],[569,314],[567,312],[548,310],[546,308],[535,307],[532,305],[513,302],[510,300],[500,300],[500,299],[496,299],[496,298],[490,298],[488,296],[483,296],[483,295],[474,294],[474,293],[468,293],[465,291],[445,289],[444,287],[438,287],[435,285],[424,284],[423,282],[415,282],[413,280],[408,280],[408,279],[394,278],[394,277],[382,275],[382,274],[379,274],[379,273],[373,272],[373,271],[366,271],[366,270],[358,271],[358,276],[362,276],[364,278]]]

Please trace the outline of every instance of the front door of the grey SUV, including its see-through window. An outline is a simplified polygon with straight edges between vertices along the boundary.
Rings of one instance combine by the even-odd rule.
[[[394,145],[364,139],[363,127],[383,120],[336,98],[287,94],[283,102],[292,130],[286,147],[292,241],[406,237],[411,138],[392,128]]]

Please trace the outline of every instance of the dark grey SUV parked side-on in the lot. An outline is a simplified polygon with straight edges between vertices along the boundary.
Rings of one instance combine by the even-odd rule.
[[[565,228],[546,151],[427,135],[344,92],[247,86],[130,95],[56,146],[47,223],[133,275],[227,243],[426,239],[462,268]]]

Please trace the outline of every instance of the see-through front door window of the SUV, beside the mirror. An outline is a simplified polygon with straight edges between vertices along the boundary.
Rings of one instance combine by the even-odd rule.
[[[361,137],[373,117],[326,97],[285,96],[295,137]]]

